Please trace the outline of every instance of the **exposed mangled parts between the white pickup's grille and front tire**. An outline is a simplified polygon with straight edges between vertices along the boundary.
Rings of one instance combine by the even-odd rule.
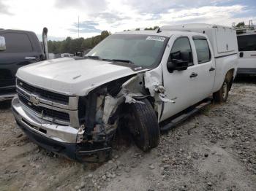
[[[125,104],[141,103],[141,98],[150,96],[144,87],[144,74],[116,79],[97,87],[88,95],[80,97],[78,114],[83,128],[83,136],[78,144],[78,160],[88,160],[88,145],[97,145],[100,155],[109,157],[111,143],[120,120],[125,114]],[[90,154],[91,155],[91,154]],[[97,157],[99,160],[99,157]]]

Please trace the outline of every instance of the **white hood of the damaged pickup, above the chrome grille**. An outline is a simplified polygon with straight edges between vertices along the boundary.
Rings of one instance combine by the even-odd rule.
[[[144,70],[91,59],[59,58],[18,69],[16,76],[31,85],[67,95],[87,95],[99,85]]]

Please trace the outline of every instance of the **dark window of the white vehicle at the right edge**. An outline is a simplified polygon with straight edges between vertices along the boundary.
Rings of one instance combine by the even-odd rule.
[[[256,34],[237,36],[239,51],[255,51],[256,50]]]

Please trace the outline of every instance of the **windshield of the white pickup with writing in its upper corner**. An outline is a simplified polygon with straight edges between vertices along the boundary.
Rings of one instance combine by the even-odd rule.
[[[99,43],[86,56],[102,60],[129,61],[136,66],[158,66],[167,37],[141,34],[113,34]]]

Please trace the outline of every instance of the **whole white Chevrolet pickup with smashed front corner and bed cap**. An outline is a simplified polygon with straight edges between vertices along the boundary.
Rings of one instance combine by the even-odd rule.
[[[227,100],[237,59],[236,31],[225,26],[121,32],[84,58],[18,69],[13,114],[32,141],[77,160],[108,157],[124,128],[148,151],[210,95]]]

